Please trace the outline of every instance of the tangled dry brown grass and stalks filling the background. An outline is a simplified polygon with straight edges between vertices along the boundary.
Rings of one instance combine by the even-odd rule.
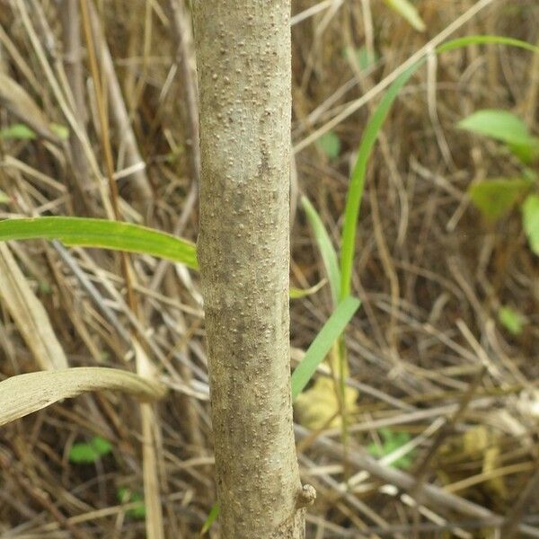
[[[453,37],[537,43],[536,0],[483,3]],[[84,32],[77,43],[73,4],[0,0],[0,128],[23,122],[37,133],[0,140],[0,216],[110,216],[97,89],[109,110],[122,218],[195,240],[194,55],[182,0],[96,1],[98,84]],[[308,196],[336,241],[350,166],[379,94],[331,129],[335,157],[305,140],[475,2],[415,4],[424,32],[381,0],[293,2],[301,13],[292,30],[295,287],[325,277],[299,197]],[[369,52],[376,62],[364,68],[358,57]],[[363,305],[347,331],[349,384],[358,390],[348,460],[340,429],[328,423],[305,437],[298,428],[303,480],[318,492],[309,537],[508,537],[517,522],[526,524],[522,536],[539,537],[539,266],[517,210],[489,224],[466,196],[474,180],[518,175],[519,163],[455,128],[474,110],[496,108],[517,112],[536,133],[537,58],[499,46],[446,53],[414,75],[384,125],[358,225],[354,294]],[[50,129],[70,128],[70,114],[87,144]],[[3,247],[1,377],[62,354],[72,367],[134,370],[129,331],[137,331],[170,387],[155,407],[166,536],[195,537],[215,501],[198,276],[130,260],[136,312],[116,254],[44,242]],[[499,323],[502,305],[526,317],[520,335]],[[291,301],[293,362],[329,314],[327,285]],[[72,446],[96,436],[111,452],[72,462]],[[401,449],[404,460],[376,468],[360,446],[371,455]],[[366,466],[370,474],[361,473]],[[406,473],[437,486],[420,495],[429,508],[402,494]],[[140,413],[128,397],[89,394],[0,430],[1,537],[143,537],[144,518],[133,511],[142,490]],[[506,532],[494,514],[508,518]]]

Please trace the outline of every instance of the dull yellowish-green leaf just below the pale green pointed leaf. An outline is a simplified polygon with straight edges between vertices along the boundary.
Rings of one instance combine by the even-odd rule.
[[[495,220],[507,214],[533,186],[534,181],[523,178],[500,178],[473,183],[468,195],[483,216]]]

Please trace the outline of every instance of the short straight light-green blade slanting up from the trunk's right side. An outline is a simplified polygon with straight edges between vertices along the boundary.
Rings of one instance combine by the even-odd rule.
[[[316,367],[323,362],[323,358],[327,356],[335,340],[345,330],[359,305],[361,302],[356,297],[344,298],[327,322],[323,324],[322,330],[316,335],[311,346],[305,352],[305,357],[292,374],[292,400],[296,400],[297,395],[305,389],[305,385],[314,375]]]

